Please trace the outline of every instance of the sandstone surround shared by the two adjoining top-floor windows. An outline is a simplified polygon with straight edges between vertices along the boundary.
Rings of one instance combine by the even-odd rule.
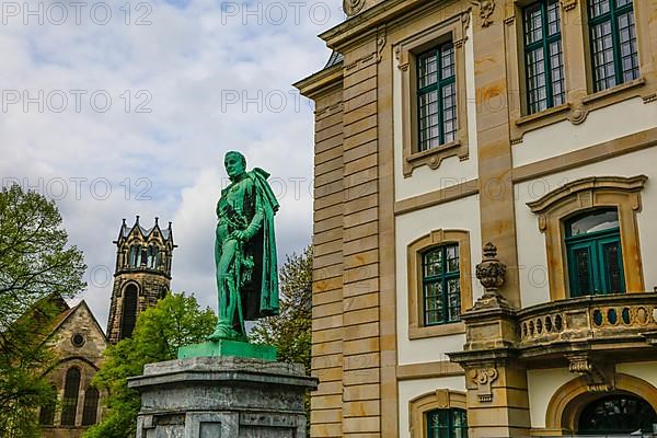
[[[634,0],[641,77],[611,89],[593,92],[587,23],[587,0],[562,0],[562,49],[566,103],[540,113],[527,111],[525,84],[525,39],[522,8],[534,0],[515,0],[505,12],[505,38],[507,45],[507,78],[509,87],[509,116],[511,143],[521,143],[526,132],[563,120],[574,125],[584,123],[591,111],[634,97],[644,103],[657,100],[657,82],[646,80],[654,65],[650,59],[649,2]],[[584,23],[584,24],[583,24]],[[581,66],[585,68],[581,68]]]

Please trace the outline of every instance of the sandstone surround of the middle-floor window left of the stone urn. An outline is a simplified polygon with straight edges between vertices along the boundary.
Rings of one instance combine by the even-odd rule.
[[[459,244],[461,313],[472,308],[470,232],[465,230],[434,230],[430,233],[414,240],[408,244],[406,250],[410,339],[465,333],[465,324],[463,322],[429,326],[423,325],[424,299],[422,287],[422,253],[431,247],[450,243]]]

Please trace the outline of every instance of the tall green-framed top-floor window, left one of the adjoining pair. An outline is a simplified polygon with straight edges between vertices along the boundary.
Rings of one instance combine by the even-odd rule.
[[[539,0],[522,10],[529,114],[565,103],[558,0]]]

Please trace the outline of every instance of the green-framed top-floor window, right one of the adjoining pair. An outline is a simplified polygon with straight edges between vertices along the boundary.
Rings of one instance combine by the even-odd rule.
[[[638,51],[632,0],[589,0],[595,91],[638,78]]]

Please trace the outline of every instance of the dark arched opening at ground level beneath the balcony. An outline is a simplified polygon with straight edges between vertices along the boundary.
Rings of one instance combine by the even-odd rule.
[[[579,415],[579,435],[641,435],[653,433],[655,410],[634,395],[608,395],[588,404]]]

